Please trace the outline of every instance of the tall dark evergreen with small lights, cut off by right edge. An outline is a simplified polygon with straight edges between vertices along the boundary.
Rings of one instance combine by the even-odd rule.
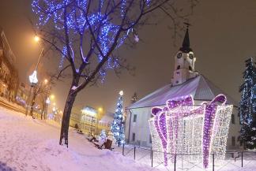
[[[240,132],[244,145],[251,149],[256,147],[256,68],[252,58],[245,62],[244,83],[239,88],[242,92],[239,103]]]

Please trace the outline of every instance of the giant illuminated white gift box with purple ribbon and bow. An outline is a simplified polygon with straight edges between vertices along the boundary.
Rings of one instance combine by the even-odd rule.
[[[217,95],[211,102],[194,105],[191,95],[170,99],[164,107],[153,107],[149,119],[152,149],[161,151],[164,165],[174,162],[174,154],[186,154],[190,162],[203,161],[208,167],[210,154],[215,160],[225,157],[232,105]]]

